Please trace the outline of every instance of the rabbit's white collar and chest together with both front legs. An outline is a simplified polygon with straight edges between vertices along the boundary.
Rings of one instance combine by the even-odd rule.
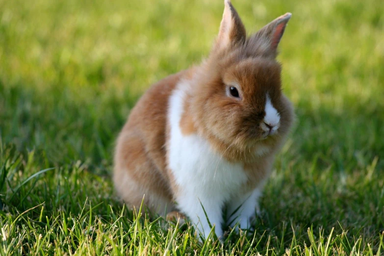
[[[198,228],[205,235],[210,230],[205,213],[211,223],[216,223],[215,230],[220,235],[222,227],[218,224],[223,222],[223,207],[227,206],[230,215],[244,204],[238,210],[237,220],[240,227],[246,228],[248,216],[258,208],[257,198],[272,164],[271,155],[266,154],[271,149],[262,146],[253,152],[244,152],[242,157],[252,159],[245,164],[245,159],[233,161],[227,158],[225,150],[212,148],[196,130],[185,131],[180,124],[183,124],[186,99],[192,91],[191,80],[183,79],[178,83],[168,109],[167,162],[174,180],[175,201],[194,223],[201,225]]]

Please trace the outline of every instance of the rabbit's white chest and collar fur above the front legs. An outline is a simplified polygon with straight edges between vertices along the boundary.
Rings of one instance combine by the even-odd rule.
[[[204,138],[196,134],[181,133],[179,124],[183,111],[184,90],[188,88],[186,83],[181,82],[179,89],[176,89],[170,98],[169,168],[181,194],[184,194],[183,200],[186,200],[187,196],[205,195],[209,196],[209,201],[225,203],[247,181],[247,175],[242,164],[230,163],[220,154],[213,152]]]

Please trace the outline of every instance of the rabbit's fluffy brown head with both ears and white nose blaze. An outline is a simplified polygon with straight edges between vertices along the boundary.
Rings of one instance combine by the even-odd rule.
[[[221,144],[248,150],[274,143],[293,119],[282,94],[277,48],[291,18],[286,13],[247,37],[229,0],[213,49],[193,79],[196,128]]]

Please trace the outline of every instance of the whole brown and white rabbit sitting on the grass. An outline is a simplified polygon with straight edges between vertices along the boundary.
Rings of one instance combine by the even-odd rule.
[[[274,156],[291,127],[277,47],[291,14],[246,35],[225,0],[209,57],[154,84],[132,109],[115,152],[114,183],[130,207],[178,209],[205,237],[223,235],[222,209],[248,228]],[[203,209],[204,207],[204,209]],[[205,212],[204,212],[205,211]]]

